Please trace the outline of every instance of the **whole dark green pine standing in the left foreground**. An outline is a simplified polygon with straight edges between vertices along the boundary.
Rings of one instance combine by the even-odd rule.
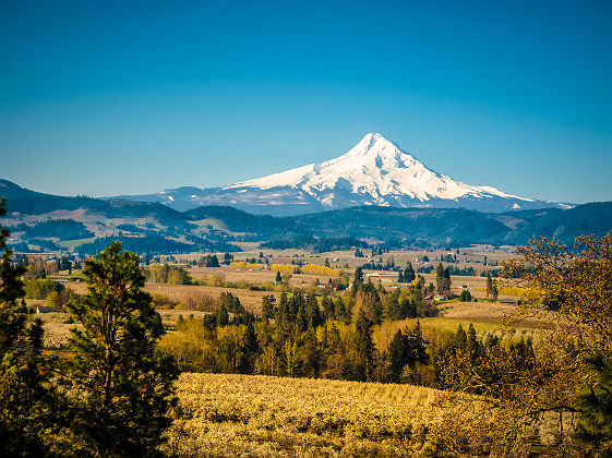
[[[68,311],[74,358],[67,385],[74,411],[71,433],[80,453],[152,456],[170,425],[175,361],[156,350],[164,334],[139,257],[115,242],[83,269],[87,294]]]

